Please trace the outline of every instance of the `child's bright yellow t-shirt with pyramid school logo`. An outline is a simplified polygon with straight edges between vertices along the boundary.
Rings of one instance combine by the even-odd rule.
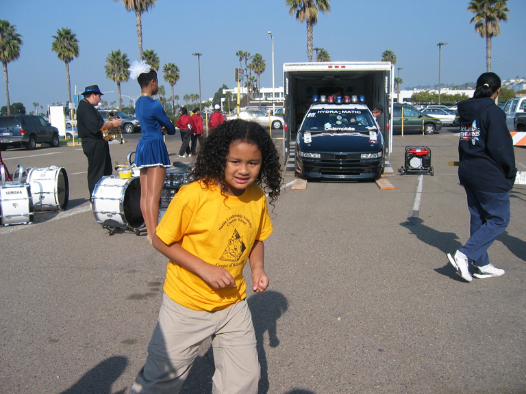
[[[168,262],[164,292],[172,300],[197,311],[227,308],[247,296],[243,267],[256,240],[273,231],[266,197],[259,185],[250,185],[240,197],[224,196],[212,185],[192,182],[179,189],[157,227],[166,244],[178,242],[209,264],[224,267],[236,288],[212,289],[199,276]]]

